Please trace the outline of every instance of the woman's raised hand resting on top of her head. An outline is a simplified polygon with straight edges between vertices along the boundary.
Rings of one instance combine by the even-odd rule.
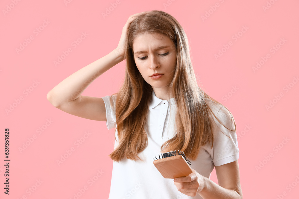
[[[130,24],[137,16],[147,13],[147,12],[149,12],[149,11],[144,11],[144,12],[136,13],[134,15],[129,16],[126,24],[124,25],[118,46],[115,49],[115,52],[118,54],[118,56],[122,57],[122,60],[125,59],[125,52],[126,52],[126,48],[127,48],[126,44],[127,44],[127,40],[128,40],[128,30],[129,30]]]

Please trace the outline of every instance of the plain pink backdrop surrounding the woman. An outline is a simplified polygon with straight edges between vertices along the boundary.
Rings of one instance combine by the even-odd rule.
[[[0,198],[75,198],[84,187],[80,199],[108,198],[114,129],[63,112],[46,95],[117,47],[129,16],[147,10],[163,10],[179,21],[199,85],[234,115],[243,198],[298,197],[298,6],[295,0],[1,1]],[[82,33],[87,36],[74,47]],[[229,48],[222,50],[223,45]],[[68,48],[72,51],[55,66]],[[216,59],[219,50],[224,53]],[[262,65],[254,71],[257,62]],[[124,61],[117,64],[82,95],[118,92],[124,67]],[[9,195],[3,189],[5,128],[10,130]],[[82,138],[85,132],[90,135]],[[20,151],[23,145],[27,148]],[[69,157],[58,165],[63,155]],[[215,170],[210,179],[217,182]]]

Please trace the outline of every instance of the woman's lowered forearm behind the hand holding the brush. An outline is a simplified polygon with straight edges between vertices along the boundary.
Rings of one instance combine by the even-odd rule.
[[[209,178],[204,177],[205,187],[199,192],[203,199],[242,199],[242,196],[233,189],[225,189]]]

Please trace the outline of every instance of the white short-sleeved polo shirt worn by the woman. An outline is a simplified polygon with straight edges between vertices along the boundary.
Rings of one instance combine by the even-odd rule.
[[[113,97],[113,109],[109,103],[110,99],[112,98],[108,95],[103,97],[108,129],[116,128],[115,96]],[[222,105],[218,105],[213,101],[208,101],[208,103],[222,124],[234,129],[234,123],[232,118],[229,117],[228,111]],[[123,159],[120,162],[113,162],[109,199],[202,199],[200,195],[191,197],[179,192],[173,183],[173,179],[164,178],[153,164],[153,158],[161,154],[161,145],[174,137],[175,116],[175,98],[168,101],[162,100],[156,97],[153,91],[152,101],[149,105],[148,126],[145,127],[148,134],[148,144],[144,151],[138,154],[145,161]],[[223,135],[219,129],[216,129],[213,148],[210,147],[211,145],[203,146],[197,159],[195,161],[190,160],[191,168],[207,178],[210,178],[214,166],[230,163],[239,158],[236,132],[226,129],[219,122],[217,122],[217,126],[231,139]],[[117,131],[115,136],[117,140],[114,148],[118,145]]]

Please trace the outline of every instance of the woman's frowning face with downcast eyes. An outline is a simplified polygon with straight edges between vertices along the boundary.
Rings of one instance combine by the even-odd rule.
[[[162,34],[140,34],[133,41],[136,66],[144,80],[154,91],[167,91],[176,67],[176,47]],[[162,75],[153,76],[155,73]]]

